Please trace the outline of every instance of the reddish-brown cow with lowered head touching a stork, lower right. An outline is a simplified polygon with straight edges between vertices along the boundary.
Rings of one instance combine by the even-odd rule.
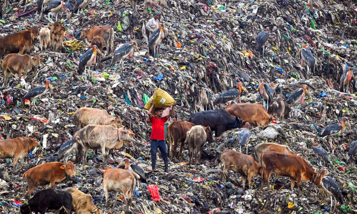
[[[300,156],[278,152],[264,152],[261,155],[261,160],[261,190],[263,190],[264,182],[267,184],[268,189],[270,188],[269,178],[272,172],[274,172],[278,178],[281,176],[291,178],[291,190],[295,187],[295,180],[297,182],[298,192],[300,192],[302,180],[312,180],[314,184],[320,186],[322,178],[321,171],[315,171],[306,160]]]

